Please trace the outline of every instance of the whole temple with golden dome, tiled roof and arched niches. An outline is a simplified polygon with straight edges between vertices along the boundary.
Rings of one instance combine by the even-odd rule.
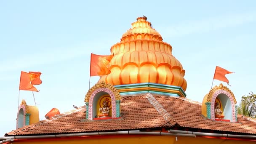
[[[205,91],[202,103],[186,98],[185,70],[146,16],[110,51],[111,72],[81,90],[84,106],[35,122],[27,120],[37,112],[30,115],[23,102],[17,129],[0,144],[255,143],[256,120],[237,115],[235,96],[222,83]]]

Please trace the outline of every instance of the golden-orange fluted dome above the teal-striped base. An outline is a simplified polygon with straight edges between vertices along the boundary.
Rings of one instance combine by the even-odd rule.
[[[137,18],[120,43],[111,47],[111,73],[101,76],[99,81],[112,85],[157,83],[180,86],[186,91],[185,70],[172,55],[171,45],[162,40],[147,17]]]

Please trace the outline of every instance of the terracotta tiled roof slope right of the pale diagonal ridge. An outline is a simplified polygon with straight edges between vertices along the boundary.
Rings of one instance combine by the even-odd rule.
[[[181,127],[256,134],[256,121],[241,115],[237,115],[237,123],[208,120],[202,116],[201,103],[184,98],[154,97]]]

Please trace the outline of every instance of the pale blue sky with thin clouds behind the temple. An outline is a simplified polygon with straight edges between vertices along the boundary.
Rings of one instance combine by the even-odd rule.
[[[256,2],[180,1],[0,1],[0,136],[16,128],[19,78],[40,71],[36,86],[40,119],[84,105],[90,53],[110,54],[137,17],[147,16],[186,70],[187,98],[201,102],[211,88],[216,65],[235,74],[228,86],[240,102],[255,90]],[[99,77],[91,77],[91,85]],[[219,85],[214,80],[213,85]],[[31,91],[20,99],[34,105]]]

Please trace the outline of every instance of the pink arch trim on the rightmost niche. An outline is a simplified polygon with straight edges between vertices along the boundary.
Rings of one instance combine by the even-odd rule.
[[[235,121],[235,102],[234,102],[234,99],[233,99],[233,97],[231,96],[231,94],[229,92],[224,91],[224,90],[218,90],[215,93],[213,93],[213,96],[211,98],[211,120],[215,120],[214,103],[215,103],[215,100],[216,100],[217,96],[221,93],[223,93],[223,94],[225,94],[229,97],[229,99],[231,101],[231,105],[232,105],[232,122],[236,122]]]

